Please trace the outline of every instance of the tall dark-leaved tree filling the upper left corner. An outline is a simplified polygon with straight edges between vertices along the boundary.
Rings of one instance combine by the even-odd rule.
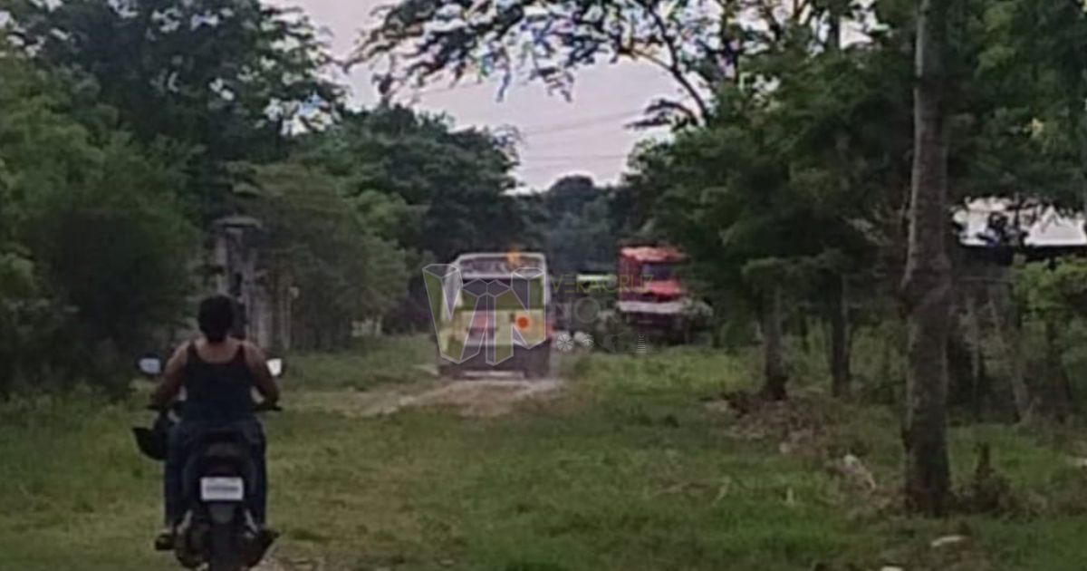
[[[204,218],[226,209],[224,166],[287,154],[287,135],[335,113],[330,57],[297,11],[257,0],[12,0],[7,42],[74,78],[75,104],[104,103],[104,126],[143,145],[185,147],[187,197]],[[84,113],[89,115],[90,113]],[[115,117],[115,119],[111,119]]]

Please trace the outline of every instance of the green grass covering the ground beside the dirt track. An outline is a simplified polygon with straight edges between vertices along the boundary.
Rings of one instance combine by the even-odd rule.
[[[373,386],[386,377],[360,367],[407,371],[422,351],[395,356],[412,350],[305,357],[287,386]],[[592,356],[566,376],[562,398],[500,418],[268,418],[279,555],[343,570],[479,571],[1073,570],[1087,560],[1085,476],[1063,456],[1080,445],[1075,434],[1042,444],[1007,426],[954,429],[958,485],[976,444],[988,442],[1015,494],[1037,507],[926,521],[870,509],[883,498],[852,491],[826,458],[782,454],[777,437],[737,436],[737,421],[702,399],[745,388],[748,360],[698,350]],[[813,398],[830,419],[832,448],[860,456],[891,496],[894,414]],[[135,402],[88,395],[0,407],[0,569],[176,568],[149,549],[159,470],[127,434],[145,417]],[[966,547],[928,546],[962,532]]]

